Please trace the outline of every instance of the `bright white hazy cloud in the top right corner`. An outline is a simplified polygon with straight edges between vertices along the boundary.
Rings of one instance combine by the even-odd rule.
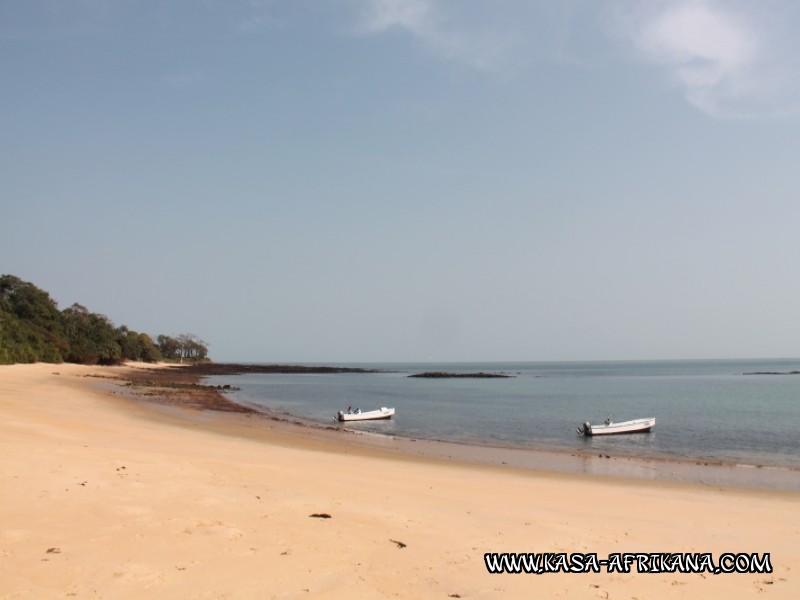
[[[783,3],[625,6],[617,12],[622,33],[639,56],[665,68],[700,110],[718,118],[757,118],[800,109],[797,43],[776,18],[786,16]]]

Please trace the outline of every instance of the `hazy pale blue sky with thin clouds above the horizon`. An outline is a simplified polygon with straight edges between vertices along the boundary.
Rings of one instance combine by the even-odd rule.
[[[800,357],[794,0],[2,0],[0,273],[218,362]]]

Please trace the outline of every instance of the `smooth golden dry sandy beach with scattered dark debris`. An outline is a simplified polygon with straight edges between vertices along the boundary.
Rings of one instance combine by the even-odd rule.
[[[798,492],[370,448],[132,400],[109,378],[137,368],[0,367],[0,597],[800,596]],[[772,572],[490,574],[492,552],[769,553]]]

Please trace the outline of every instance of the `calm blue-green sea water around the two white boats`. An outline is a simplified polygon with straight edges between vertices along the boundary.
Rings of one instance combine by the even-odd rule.
[[[209,378],[241,388],[234,400],[332,423],[348,406],[396,409],[390,421],[347,427],[394,436],[511,448],[800,468],[800,360],[347,364],[358,374]],[[491,372],[501,379],[409,378],[425,371]],[[575,429],[656,417],[649,434],[584,438]]]

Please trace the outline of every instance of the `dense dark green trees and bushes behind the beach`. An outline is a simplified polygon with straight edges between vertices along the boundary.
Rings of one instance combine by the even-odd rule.
[[[59,310],[50,295],[13,275],[0,276],[0,364],[73,362],[112,365],[125,360],[202,361],[205,342],[116,327],[105,315],[73,304]]]

